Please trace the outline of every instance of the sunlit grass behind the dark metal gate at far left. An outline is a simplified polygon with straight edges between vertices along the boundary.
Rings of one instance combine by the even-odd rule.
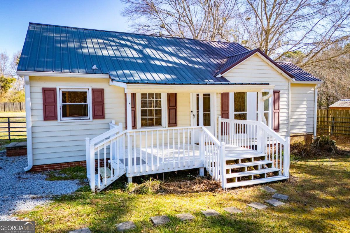
[[[22,118],[26,116],[26,112],[0,112],[0,127],[7,127],[7,118],[2,117],[20,117],[20,118],[10,118],[11,127],[26,127],[26,123],[17,123],[17,122],[25,122],[26,118]],[[23,131],[26,128],[12,128],[10,131]],[[26,134],[26,132],[11,132],[11,138],[14,140],[1,140],[8,138],[8,128],[0,128],[0,151],[5,149],[5,145],[9,144],[13,141],[25,141],[26,136],[16,136],[21,134]]]

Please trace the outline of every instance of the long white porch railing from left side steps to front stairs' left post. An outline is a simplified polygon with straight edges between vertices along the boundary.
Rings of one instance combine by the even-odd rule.
[[[199,143],[197,140],[200,140]],[[220,179],[221,145],[203,126],[110,130],[86,139],[87,176],[92,191],[127,177],[205,167]],[[102,179],[102,181],[101,181]]]

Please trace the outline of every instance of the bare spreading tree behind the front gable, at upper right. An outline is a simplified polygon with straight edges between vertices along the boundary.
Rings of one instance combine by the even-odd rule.
[[[275,60],[299,51],[294,63],[307,66],[350,50],[323,54],[350,41],[349,0],[246,0],[240,13],[247,46]]]

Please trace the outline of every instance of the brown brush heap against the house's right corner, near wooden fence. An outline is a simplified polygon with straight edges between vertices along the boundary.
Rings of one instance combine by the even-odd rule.
[[[339,150],[335,140],[332,140],[328,135],[316,137],[312,142],[305,144],[295,143],[290,145],[291,160],[315,158],[325,154],[344,154]]]

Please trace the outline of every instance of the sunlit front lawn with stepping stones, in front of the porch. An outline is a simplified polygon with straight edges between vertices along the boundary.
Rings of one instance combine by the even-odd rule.
[[[83,227],[89,227],[93,233],[116,232],[114,224],[124,221],[137,225],[129,232],[145,233],[350,232],[350,147],[347,145],[347,155],[292,162],[289,181],[268,184],[289,195],[289,201],[284,206],[269,206],[262,211],[246,204],[271,199],[272,194],[259,189],[264,185],[218,192],[128,195],[123,183],[115,182],[113,187],[97,194],[85,186],[73,195],[58,197],[48,205],[17,215],[35,221],[36,232],[50,233]],[[186,173],[182,175],[186,179]],[[223,210],[229,206],[243,213],[230,215]],[[200,211],[207,209],[221,215],[206,218]],[[196,218],[182,223],[175,218],[179,213],[191,213]],[[149,217],[163,214],[171,222],[154,227]]]

